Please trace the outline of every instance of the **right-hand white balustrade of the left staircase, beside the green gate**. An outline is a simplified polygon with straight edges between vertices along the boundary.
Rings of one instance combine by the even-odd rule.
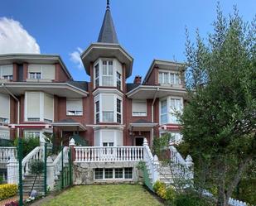
[[[56,159],[53,161],[53,170],[54,170],[54,178],[55,180],[58,180],[58,175],[60,175],[60,171],[62,170],[62,151],[60,151],[59,155],[56,157]],[[65,146],[63,148],[63,165],[69,162],[69,147]]]

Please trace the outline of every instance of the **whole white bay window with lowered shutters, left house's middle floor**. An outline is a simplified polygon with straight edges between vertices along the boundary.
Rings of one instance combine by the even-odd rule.
[[[53,96],[42,92],[25,93],[25,121],[53,122]]]

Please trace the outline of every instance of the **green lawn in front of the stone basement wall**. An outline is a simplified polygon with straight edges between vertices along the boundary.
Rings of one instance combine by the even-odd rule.
[[[138,184],[83,185],[67,189],[42,206],[65,205],[114,205],[114,206],[161,206],[147,189]]]

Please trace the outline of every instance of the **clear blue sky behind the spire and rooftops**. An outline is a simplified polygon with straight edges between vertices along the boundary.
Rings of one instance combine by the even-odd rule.
[[[145,76],[153,59],[185,60],[185,26],[206,36],[216,17],[214,0],[110,0],[118,41],[134,58],[136,74]],[[233,5],[245,21],[256,14],[255,0],[220,1],[225,15]],[[76,80],[89,80],[70,54],[97,41],[106,0],[2,0],[0,17],[12,18],[36,39],[42,54],[59,54]],[[1,29],[1,27],[0,27]]]

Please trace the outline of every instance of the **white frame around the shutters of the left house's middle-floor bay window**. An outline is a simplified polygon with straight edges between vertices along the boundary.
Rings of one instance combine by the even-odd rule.
[[[28,108],[27,108],[27,93],[40,93],[40,105],[39,105],[39,110],[40,110],[40,117],[39,118],[39,121],[29,121],[28,118],[27,118],[27,111],[28,111]],[[53,114],[52,114],[52,120],[50,121],[45,121],[45,117],[44,117],[44,96],[45,95],[50,95],[48,93],[43,93],[43,92],[25,92],[25,107],[24,107],[24,119],[26,122],[54,122],[54,114],[55,114],[55,108],[54,108],[54,105],[55,105],[55,101],[54,101],[54,98],[53,98],[53,105],[52,105],[52,109],[53,109]]]

